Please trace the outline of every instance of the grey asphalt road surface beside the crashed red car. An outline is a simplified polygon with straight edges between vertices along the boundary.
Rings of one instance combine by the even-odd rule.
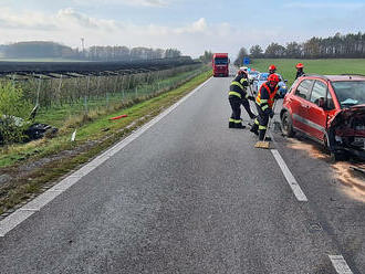
[[[365,273],[365,203],[327,161],[229,129],[230,78],[168,116],[0,238],[0,273]],[[247,114],[243,115],[248,119]]]

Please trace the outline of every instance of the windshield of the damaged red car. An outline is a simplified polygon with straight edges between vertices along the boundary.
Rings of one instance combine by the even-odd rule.
[[[365,104],[365,81],[332,82],[341,107]]]

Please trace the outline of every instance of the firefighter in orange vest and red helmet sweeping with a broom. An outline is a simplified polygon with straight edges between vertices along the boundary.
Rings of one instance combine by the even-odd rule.
[[[250,131],[259,135],[259,139],[263,140],[269,117],[274,116],[274,110],[272,109],[274,101],[279,98],[279,86],[278,83],[280,78],[277,74],[270,74],[268,81],[263,83],[259,89],[258,96],[255,98],[255,105],[259,112],[258,118],[255,118]],[[267,140],[270,140],[267,137]]]

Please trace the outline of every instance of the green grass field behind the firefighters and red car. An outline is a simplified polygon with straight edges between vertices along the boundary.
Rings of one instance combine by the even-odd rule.
[[[365,59],[321,59],[321,60],[300,60],[300,59],[255,59],[250,67],[260,72],[268,72],[268,67],[274,64],[284,80],[291,85],[295,80],[296,63],[304,64],[305,73],[315,74],[344,74],[357,73],[365,75]]]

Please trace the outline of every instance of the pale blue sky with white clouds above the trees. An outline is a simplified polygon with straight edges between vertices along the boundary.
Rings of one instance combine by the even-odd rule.
[[[241,46],[365,32],[365,0],[0,0],[0,44],[55,41],[237,55]]]

